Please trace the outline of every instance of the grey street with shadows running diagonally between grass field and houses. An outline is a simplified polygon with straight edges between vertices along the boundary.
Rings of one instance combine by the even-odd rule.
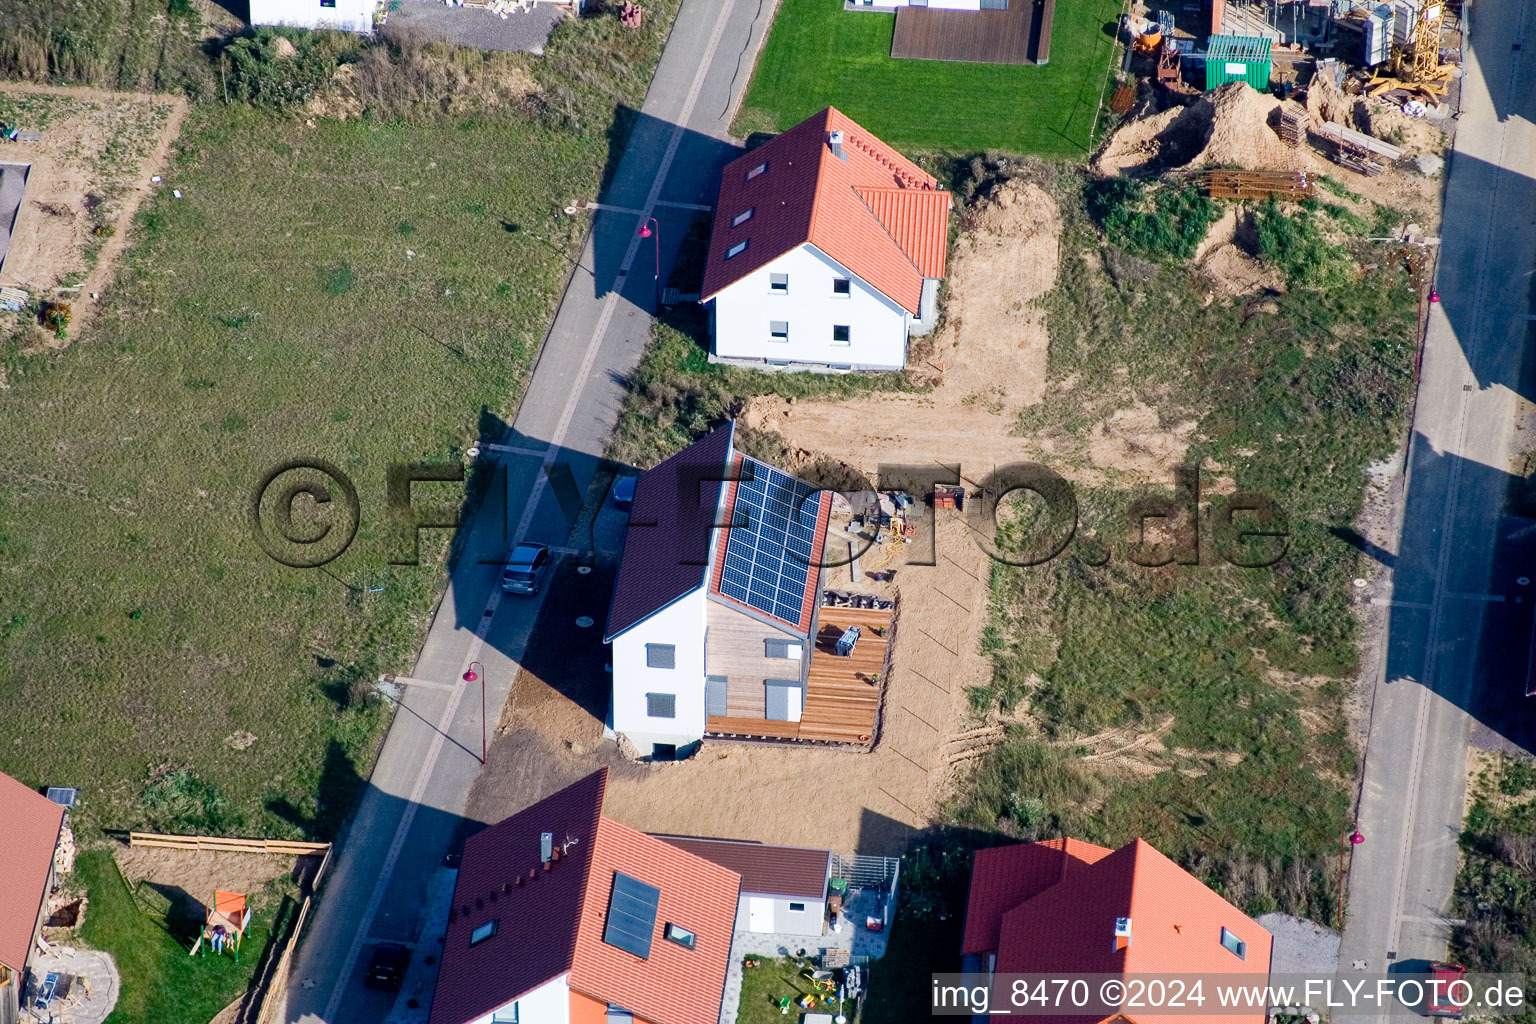
[[[713,198],[719,166],[736,152],[727,124],[770,15],[768,0],[684,0],[601,197],[621,209],[596,215],[516,419],[498,439],[505,450],[481,456],[499,461],[502,485],[468,527],[412,671],[419,682],[404,688],[338,844],[290,973],[283,1021],[382,1021],[395,996],[361,986],[372,944],[421,943],[413,970],[430,950],[425,926],[439,866],[479,824],[462,811],[481,768],[482,723],[499,717],[539,606],[536,597],[501,594],[496,562],[519,539],[581,542],[568,536],[561,488],[544,467],[568,465],[574,493],[585,493],[621,407],[622,379],[650,336],[656,276],[665,279],[694,207]],[[642,239],[637,229],[648,216],[660,230]],[[462,682],[472,662],[485,669],[485,717],[479,682]]]

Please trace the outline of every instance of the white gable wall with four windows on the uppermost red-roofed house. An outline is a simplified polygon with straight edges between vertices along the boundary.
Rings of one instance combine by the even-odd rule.
[[[774,292],[776,273],[790,290]],[[848,278],[848,295],[833,281]],[[714,298],[714,355],[719,359],[808,362],[860,370],[900,370],[906,364],[908,313],[849,273],[816,246],[786,252]],[[770,324],[790,324],[788,341],[773,341]],[[833,342],[833,325],[849,329],[849,344]]]

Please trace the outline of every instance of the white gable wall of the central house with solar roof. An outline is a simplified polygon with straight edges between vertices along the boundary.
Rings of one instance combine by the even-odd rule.
[[[703,738],[703,567],[700,586],[613,639],[613,729],[650,754],[654,743]],[[650,668],[647,643],[670,643],[674,668]],[[677,717],[651,718],[645,694],[674,694]]]

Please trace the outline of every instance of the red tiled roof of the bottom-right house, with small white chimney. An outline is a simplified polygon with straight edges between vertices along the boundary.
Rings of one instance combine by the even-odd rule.
[[[1144,840],[1117,851],[1049,840],[977,851],[962,953],[983,972],[1210,976],[1263,986],[1272,936]],[[1087,1024],[1089,1016],[1037,1015]],[[1197,1015],[1104,1019],[1198,1024]],[[1263,1009],[1226,1019],[1261,1024]]]

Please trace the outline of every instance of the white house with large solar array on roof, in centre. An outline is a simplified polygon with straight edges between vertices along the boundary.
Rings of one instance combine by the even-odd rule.
[[[610,726],[642,755],[687,754],[708,734],[813,738],[799,725],[831,493],[740,454],[733,434],[716,430],[634,488],[604,639]]]

